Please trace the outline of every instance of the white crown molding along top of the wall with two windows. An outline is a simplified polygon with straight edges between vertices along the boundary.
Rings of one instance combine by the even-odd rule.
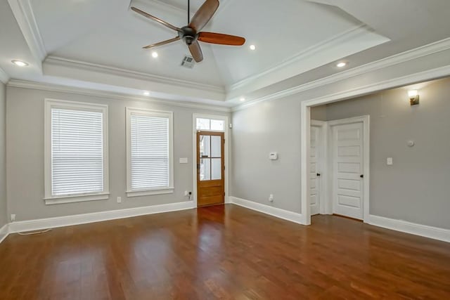
[[[21,88],[21,89],[36,89],[36,90],[40,90],[40,91],[72,93],[72,94],[82,95],[82,96],[94,96],[94,97],[108,98],[108,99],[114,99],[114,100],[140,100],[140,101],[146,101],[146,102],[151,102],[151,103],[160,104],[160,105],[188,107],[188,108],[195,108],[195,109],[199,109],[199,110],[211,110],[214,112],[231,112],[231,107],[222,107],[222,106],[217,106],[217,105],[207,105],[207,104],[200,104],[200,103],[188,103],[188,102],[165,100],[165,99],[158,99],[158,98],[139,97],[139,96],[135,96],[135,95],[127,95],[124,93],[115,93],[112,91],[98,91],[98,90],[93,90],[93,89],[82,89],[82,88],[78,88],[78,87],[74,87],[74,86],[61,86],[58,84],[46,84],[46,83],[34,82],[34,81],[23,81],[23,80],[11,79],[8,82],[8,86],[15,87],[15,88]]]

